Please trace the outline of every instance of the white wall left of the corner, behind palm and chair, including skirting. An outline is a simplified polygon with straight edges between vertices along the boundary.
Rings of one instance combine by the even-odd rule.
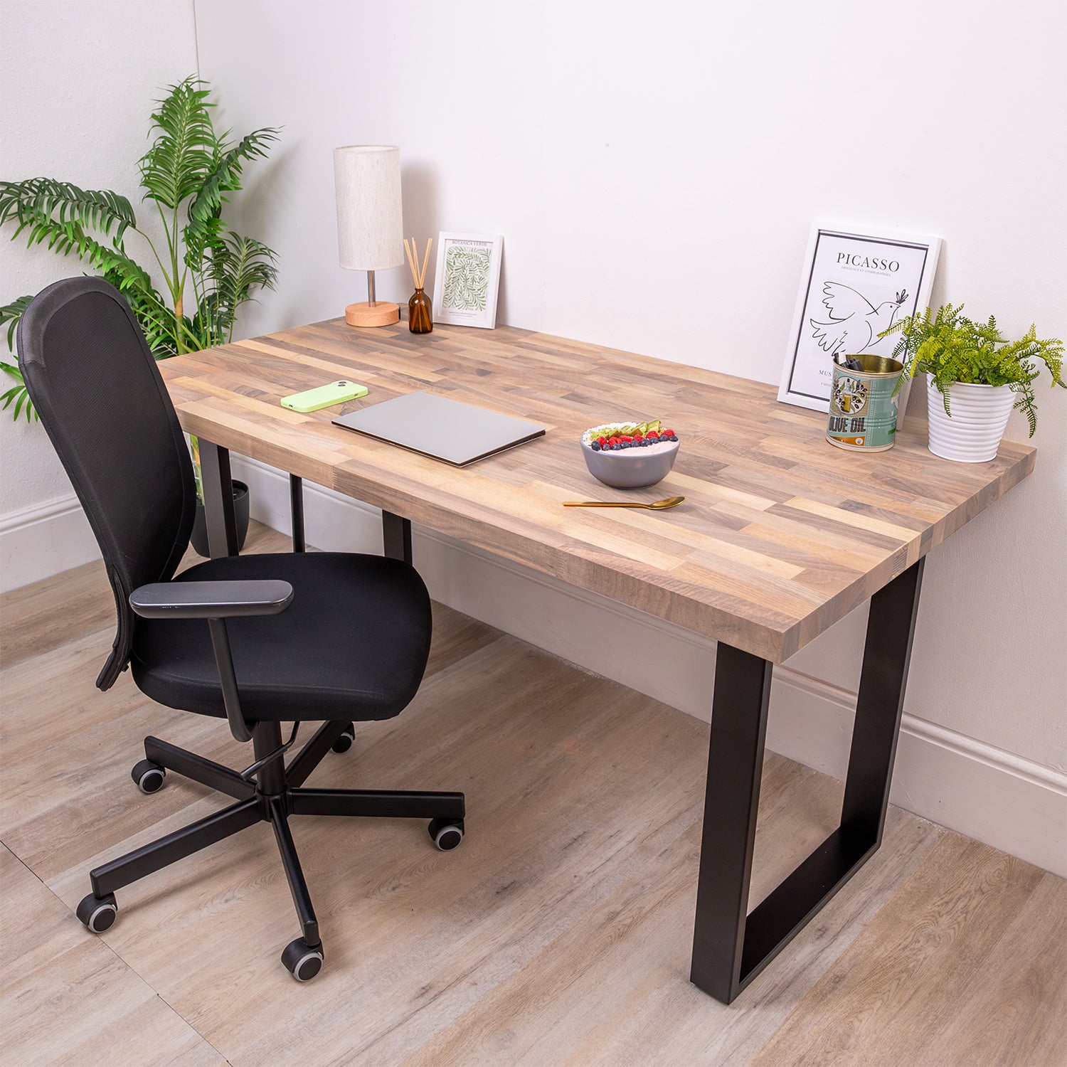
[[[137,161],[161,85],[196,71],[192,0],[2,0],[0,176],[46,176],[129,197],[139,222]],[[147,226],[153,239],[162,239]],[[80,274],[61,258],[0,234],[0,303]],[[137,235],[126,239],[140,251]],[[150,253],[140,259],[146,267]],[[14,363],[0,346],[4,362]],[[13,379],[0,376],[0,392]],[[0,583],[25,585],[98,553],[48,439],[38,425],[0,413]]]

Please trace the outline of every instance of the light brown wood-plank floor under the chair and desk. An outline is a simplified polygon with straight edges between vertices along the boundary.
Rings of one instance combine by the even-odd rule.
[[[250,550],[283,548],[254,529]],[[687,981],[707,728],[447,608],[398,719],[309,784],[467,795],[467,838],[294,819],[327,967],[298,934],[266,824],[73,909],[106,858],[216,810],[148,733],[233,766],[218,720],[93,681],[111,595],[90,564],[2,602],[0,1063],[1062,1065],[1061,879],[895,808],[878,855],[740,999]],[[840,783],[768,755],[752,902],[835,823]]]

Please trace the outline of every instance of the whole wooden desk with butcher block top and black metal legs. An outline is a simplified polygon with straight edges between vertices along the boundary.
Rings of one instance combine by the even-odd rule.
[[[989,463],[941,460],[922,424],[890,452],[846,452],[824,440],[825,415],[770,385],[511,328],[416,337],[334,319],[160,367],[201,439],[213,555],[235,551],[234,449],[380,507],[389,555],[410,558],[414,520],[719,641],[691,977],[727,1003],[878,848],[923,558],[1035,458],[1005,443]],[[424,389],[548,432],[457,469],[332,426],[337,409],[278,404],[341,378],[370,387],[346,412]],[[589,476],[578,435],[617,417],[679,431],[665,481],[622,491]],[[560,506],[674,494],[686,503],[659,513]],[[771,666],[869,598],[841,827],[747,914]]]

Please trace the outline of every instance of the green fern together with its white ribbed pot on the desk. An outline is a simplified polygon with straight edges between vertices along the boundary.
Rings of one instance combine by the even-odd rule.
[[[931,315],[927,307],[894,322],[879,336],[901,337],[893,357],[904,364],[905,378],[926,373],[929,450],[943,459],[981,463],[997,456],[1013,408],[1026,416],[1030,436],[1037,429],[1034,380],[1044,364],[1052,385],[1067,388],[1061,377],[1063,341],[1039,340],[1031,325],[1009,341],[990,315],[974,322],[964,305],[944,304]]]

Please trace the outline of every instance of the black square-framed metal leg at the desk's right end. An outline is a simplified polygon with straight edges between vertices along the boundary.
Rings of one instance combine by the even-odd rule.
[[[690,980],[735,997],[877,851],[924,560],[871,599],[841,826],[748,913],[771,665],[719,643]]]

